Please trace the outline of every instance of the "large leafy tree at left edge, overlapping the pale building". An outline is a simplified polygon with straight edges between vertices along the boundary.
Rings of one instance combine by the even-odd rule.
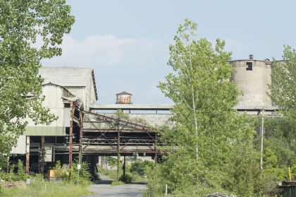
[[[61,55],[58,45],[74,21],[66,0],[0,1],[0,162],[25,131],[26,118],[57,119],[42,107],[38,70],[42,59]]]

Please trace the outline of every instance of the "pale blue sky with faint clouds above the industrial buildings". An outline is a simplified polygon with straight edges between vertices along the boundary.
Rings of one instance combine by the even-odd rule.
[[[63,37],[63,54],[42,66],[94,68],[97,103],[113,104],[129,92],[134,104],[173,104],[156,88],[173,69],[167,65],[185,18],[197,37],[226,40],[232,59],[282,59],[283,45],[296,48],[296,1],[68,0],[75,23]]]

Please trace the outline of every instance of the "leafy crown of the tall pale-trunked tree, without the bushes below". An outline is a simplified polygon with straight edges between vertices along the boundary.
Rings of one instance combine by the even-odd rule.
[[[174,73],[159,88],[175,102],[171,140],[191,152],[194,147],[199,160],[204,154],[223,154],[229,142],[250,133],[242,132],[248,129],[246,119],[233,109],[242,92],[229,80],[235,70],[228,63],[231,53],[223,51],[225,41],[217,39],[213,49],[205,38],[194,39],[196,30],[197,23],[187,19],[178,28],[175,44],[169,46],[168,65]]]

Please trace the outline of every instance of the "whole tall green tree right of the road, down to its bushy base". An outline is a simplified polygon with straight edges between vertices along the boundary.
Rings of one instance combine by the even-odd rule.
[[[214,49],[205,38],[194,40],[196,30],[197,24],[185,19],[175,44],[169,46],[168,65],[174,73],[158,87],[175,102],[171,110],[175,126],[161,134],[161,141],[171,145],[166,151],[173,151],[147,174],[151,191],[156,183],[167,183],[171,193],[193,188],[197,192],[200,187],[218,191],[223,179],[217,172],[226,158],[252,145],[250,119],[233,109],[242,92],[229,80],[235,72],[228,63],[231,53],[223,51],[225,41],[220,39]]]

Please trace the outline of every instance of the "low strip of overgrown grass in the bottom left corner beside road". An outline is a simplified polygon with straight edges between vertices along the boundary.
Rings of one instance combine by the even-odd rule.
[[[0,196],[7,197],[76,197],[89,196],[92,192],[80,186],[61,182],[32,182],[29,186],[0,189]]]

